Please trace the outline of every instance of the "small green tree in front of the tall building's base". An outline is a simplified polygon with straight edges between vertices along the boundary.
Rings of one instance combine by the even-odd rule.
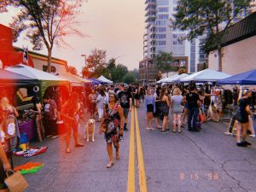
[[[160,51],[157,55],[155,55],[155,63],[157,66],[157,69],[159,71],[163,71],[167,73],[168,77],[168,72],[170,71],[176,71],[177,67],[172,67],[172,53]]]

